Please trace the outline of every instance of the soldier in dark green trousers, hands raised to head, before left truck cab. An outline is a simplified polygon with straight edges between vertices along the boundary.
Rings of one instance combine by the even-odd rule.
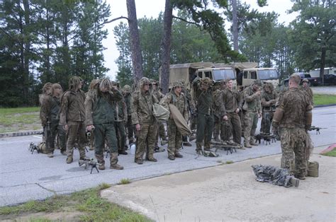
[[[197,102],[197,134],[196,153],[202,155],[202,141],[204,150],[210,151],[210,141],[213,135],[213,92],[211,86],[213,81],[206,78],[195,78],[193,86]]]

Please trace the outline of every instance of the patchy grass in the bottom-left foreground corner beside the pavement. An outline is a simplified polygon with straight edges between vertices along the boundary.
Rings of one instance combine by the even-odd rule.
[[[108,187],[110,186],[107,184],[101,184],[99,187],[75,192],[67,196],[51,197],[45,201],[28,201],[26,204],[18,206],[4,206],[0,208],[0,220],[13,220],[18,216],[38,212],[47,214],[67,211],[67,214],[70,214],[71,212],[79,211],[82,214],[68,219],[70,221],[150,221],[149,218],[141,214],[101,198],[101,189]],[[62,220],[62,216],[57,218],[57,220]],[[45,215],[38,218],[30,218],[30,221],[55,221],[55,218],[50,219]]]

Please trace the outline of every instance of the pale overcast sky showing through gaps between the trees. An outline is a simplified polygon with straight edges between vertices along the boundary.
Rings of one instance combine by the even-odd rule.
[[[106,0],[106,2],[111,6],[110,19],[118,18],[120,16],[127,17],[126,0]],[[293,19],[296,17],[296,14],[286,13],[286,11],[291,9],[291,6],[293,6],[291,0],[267,0],[268,6],[264,6],[262,8],[257,5],[257,0],[245,0],[245,2],[250,4],[251,8],[257,8],[259,12],[275,11],[279,14],[278,21],[280,23],[285,23],[286,25],[293,21]],[[135,0],[135,6],[137,9],[138,19],[143,18],[144,16],[147,18],[156,18],[160,11],[164,11],[164,0]],[[103,46],[106,47],[103,52],[105,65],[108,69],[110,69],[110,71],[107,73],[107,76],[113,80],[116,78],[116,72],[118,71],[118,67],[115,61],[119,56],[119,52],[115,44],[116,40],[114,39],[113,35],[113,28],[121,21],[127,23],[125,19],[121,19],[106,24],[105,28],[108,29],[108,37],[103,40]]]

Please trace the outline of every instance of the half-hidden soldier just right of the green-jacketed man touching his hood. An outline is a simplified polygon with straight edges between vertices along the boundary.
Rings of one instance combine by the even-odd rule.
[[[114,88],[119,90],[119,83],[112,81],[111,84],[114,86]],[[116,127],[116,136],[118,140],[118,153],[127,155],[128,153],[125,151],[126,133],[124,124],[124,122],[127,122],[127,108],[123,98],[121,98],[121,100],[115,101],[114,104],[116,110],[114,114],[114,118],[116,119],[114,121],[114,126]]]

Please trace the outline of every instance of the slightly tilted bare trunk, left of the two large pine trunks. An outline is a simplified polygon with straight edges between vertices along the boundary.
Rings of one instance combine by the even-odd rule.
[[[126,0],[127,13],[128,13],[128,27],[130,29],[130,45],[131,57],[133,63],[133,73],[135,76],[134,81],[140,81],[142,78],[142,54],[140,49],[140,38],[138,30],[137,11],[135,8],[135,0]]]

